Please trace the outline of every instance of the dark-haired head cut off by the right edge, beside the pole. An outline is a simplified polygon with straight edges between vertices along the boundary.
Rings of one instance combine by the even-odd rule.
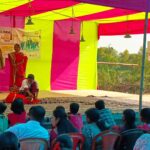
[[[145,123],[150,123],[150,108],[143,108],[140,112],[141,121]]]

